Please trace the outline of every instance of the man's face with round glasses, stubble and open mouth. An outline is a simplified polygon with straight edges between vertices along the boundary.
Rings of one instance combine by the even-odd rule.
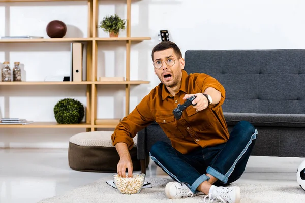
[[[172,65],[173,63],[174,65]],[[156,51],[154,53],[154,64],[155,66],[161,65],[160,69],[155,68],[155,74],[165,86],[173,88],[180,83],[182,69],[184,69],[184,59],[179,59],[173,49]]]

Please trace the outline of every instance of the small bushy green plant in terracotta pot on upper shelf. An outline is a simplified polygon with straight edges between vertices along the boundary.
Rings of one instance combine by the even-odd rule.
[[[114,16],[107,15],[101,20],[99,28],[102,28],[105,32],[109,32],[110,37],[118,37],[118,32],[125,29],[125,23],[126,21],[116,14]]]

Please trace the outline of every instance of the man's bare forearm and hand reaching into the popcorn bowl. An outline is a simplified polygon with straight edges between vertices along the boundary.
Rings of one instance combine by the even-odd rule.
[[[121,177],[126,177],[126,169],[128,170],[128,177],[132,177],[133,165],[126,143],[116,143],[116,151],[120,157],[117,164],[117,173]]]

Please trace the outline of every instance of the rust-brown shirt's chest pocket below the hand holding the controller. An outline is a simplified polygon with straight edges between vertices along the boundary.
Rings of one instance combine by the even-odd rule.
[[[192,126],[196,126],[199,131],[202,131],[206,128],[212,127],[216,122],[216,117],[210,108],[206,108],[202,111],[196,111],[192,106],[186,109],[188,115],[188,122]]]

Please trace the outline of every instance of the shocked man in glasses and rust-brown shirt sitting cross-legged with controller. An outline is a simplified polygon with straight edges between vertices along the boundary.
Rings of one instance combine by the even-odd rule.
[[[245,170],[254,146],[257,130],[241,121],[231,134],[223,116],[224,87],[203,73],[188,75],[177,45],[163,41],[151,54],[155,74],[161,83],[146,95],[139,105],[116,127],[112,143],[120,156],[117,172],[132,175],[129,149],[136,133],[156,121],[171,141],[157,142],[150,158],[175,182],[165,187],[168,198],[206,194],[204,200],[235,203],[240,201],[239,187],[223,187],[236,181]],[[196,95],[180,119],[173,109]],[[196,104],[196,105],[195,105]]]

